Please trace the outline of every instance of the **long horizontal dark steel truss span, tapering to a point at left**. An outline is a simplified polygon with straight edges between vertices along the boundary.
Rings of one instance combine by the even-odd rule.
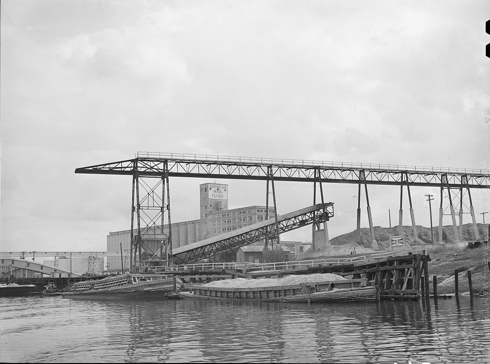
[[[135,163],[137,161],[137,163]],[[317,170],[321,182],[359,183],[375,185],[406,185],[450,187],[490,188],[490,173],[463,172],[418,172],[397,169],[364,169],[336,166],[312,166],[290,164],[265,164],[248,162],[199,161],[194,159],[158,159],[136,158],[112,163],[98,164],[78,168],[75,173],[134,175],[140,177],[163,176],[168,165],[169,177],[220,178],[264,180],[268,176],[268,167],[274,181],[318,182]],[[135,165],[137,166],[135,170]],[[362,178],[359,178],[362,176]],[[405,180],[404,178],[407,178]]]

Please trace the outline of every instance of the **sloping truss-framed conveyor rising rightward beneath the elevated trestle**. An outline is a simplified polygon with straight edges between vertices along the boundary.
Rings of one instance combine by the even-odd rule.
[[[311,225],[315,222],[323,222],[324,219],[333,217],[333,203],[317,204],[311,211],[301,212],[299,210],[297,214],[278,216],[278,231],[279,234],[286,233],[288,231],[301,228],[303,226]],[[319,213],[321,211],[321,213]],[[325,211],[324,213],[322,213]],[[225,251],[240,248],[245,245],[249,245],[253,242],[269,238],[276,235],[275,218],[272,218],[267,225],[257,229],[240,233],[237,230],[236,235],[226,237],[220,240],[213,241],[209,244],[202,246],[189,247],[188,250],[175,254],[173,256],[176,264],[188,264],[198,261],[200,259],[209,258],[213,255],[224,253]],[[196,243],[197,244],[197,243]]]

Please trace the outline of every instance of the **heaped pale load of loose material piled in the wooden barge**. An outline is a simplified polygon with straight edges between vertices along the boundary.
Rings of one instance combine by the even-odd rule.
[[[216,287],[216,288],[259,288],[259,287],[278,287],[278,286],[292,286],[302,283],[314,283],[325,281],[345,281],[341,275],[332,273],[315,273],[315,274],[301,274],[301,275],[288,275],[282,278],[261,278],[261,279],[223,279],[222,281],[215,281],[202,285],[201,287]]]

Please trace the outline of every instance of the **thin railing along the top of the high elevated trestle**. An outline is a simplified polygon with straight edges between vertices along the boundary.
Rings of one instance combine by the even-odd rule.
[[[471,173],[471,174],[482,174],[482,175],[490,174],[490,170],[476,170],[476,169],[467,169],[467,168],[444,168],[444,167],[431,167],[431,166],[422,166],[422,165],[400,165],[400,164],[380,164],[380,163],[351,163],[351,162],[332,162],[332,161],[326,162],[322,160],[238,157],[238,156],[208,155],[208,154],[138,152],[137,157],[156,158],[156,159],[183,159],[183,160],[195,160],[195,161],[232,162],[232,163],[322,166],[322,167],[362,169],[362,170],[386,170],[386,171],[396,170],[396,171],[457,173],[457,174]]]

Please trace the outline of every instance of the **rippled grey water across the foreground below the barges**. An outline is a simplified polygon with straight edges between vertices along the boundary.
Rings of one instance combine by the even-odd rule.
[[[0,298],[2,362],[490,362],[487,300]]]

